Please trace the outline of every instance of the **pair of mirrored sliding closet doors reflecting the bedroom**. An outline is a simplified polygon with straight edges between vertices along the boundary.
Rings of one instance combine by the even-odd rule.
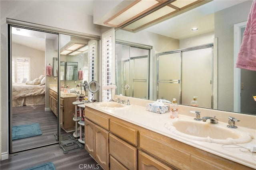
[[[98,39],[14,25],[9,30],[10,153],[82,141],[74,102],[92,98],[84,86],[97,81]]]

